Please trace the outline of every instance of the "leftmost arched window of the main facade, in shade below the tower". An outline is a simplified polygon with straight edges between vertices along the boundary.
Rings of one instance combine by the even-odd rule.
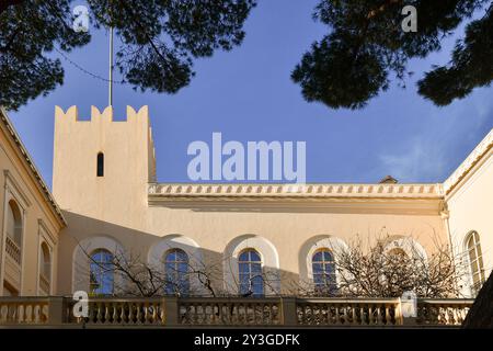
[[[91,253],[89,291],[92,295],[113,295],[113,253],[98,249]]]

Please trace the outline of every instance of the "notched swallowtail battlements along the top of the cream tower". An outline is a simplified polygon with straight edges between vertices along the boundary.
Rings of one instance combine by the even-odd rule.
[[[107,106],[101,112],[96,106],[91,106],[91,120],[81,121],[79,120],[79,109],[77,105],[70,106],[64,112],[60,106],[55,106],[55,121],[58,123],[64,122],[137,122],[145,121],[149,122],[149,107],[147,105],[141,106],[138,111],[134,107],[127,105],[127,116],[124,121],[114,121],[113,118],[113,106]]]

